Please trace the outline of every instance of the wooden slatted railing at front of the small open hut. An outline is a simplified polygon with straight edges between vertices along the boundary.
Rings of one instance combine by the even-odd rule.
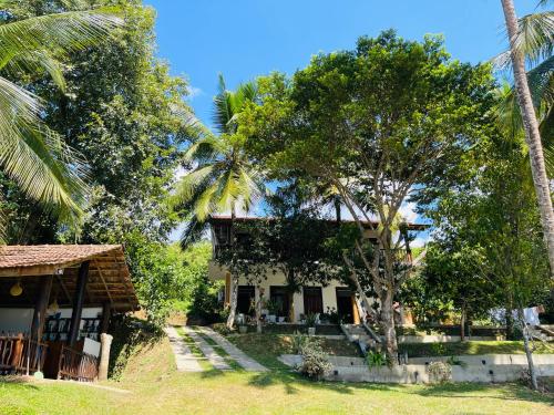
[[[24,374],[42,370],[48,345],[22,334],[0,336],[0,373]]]

